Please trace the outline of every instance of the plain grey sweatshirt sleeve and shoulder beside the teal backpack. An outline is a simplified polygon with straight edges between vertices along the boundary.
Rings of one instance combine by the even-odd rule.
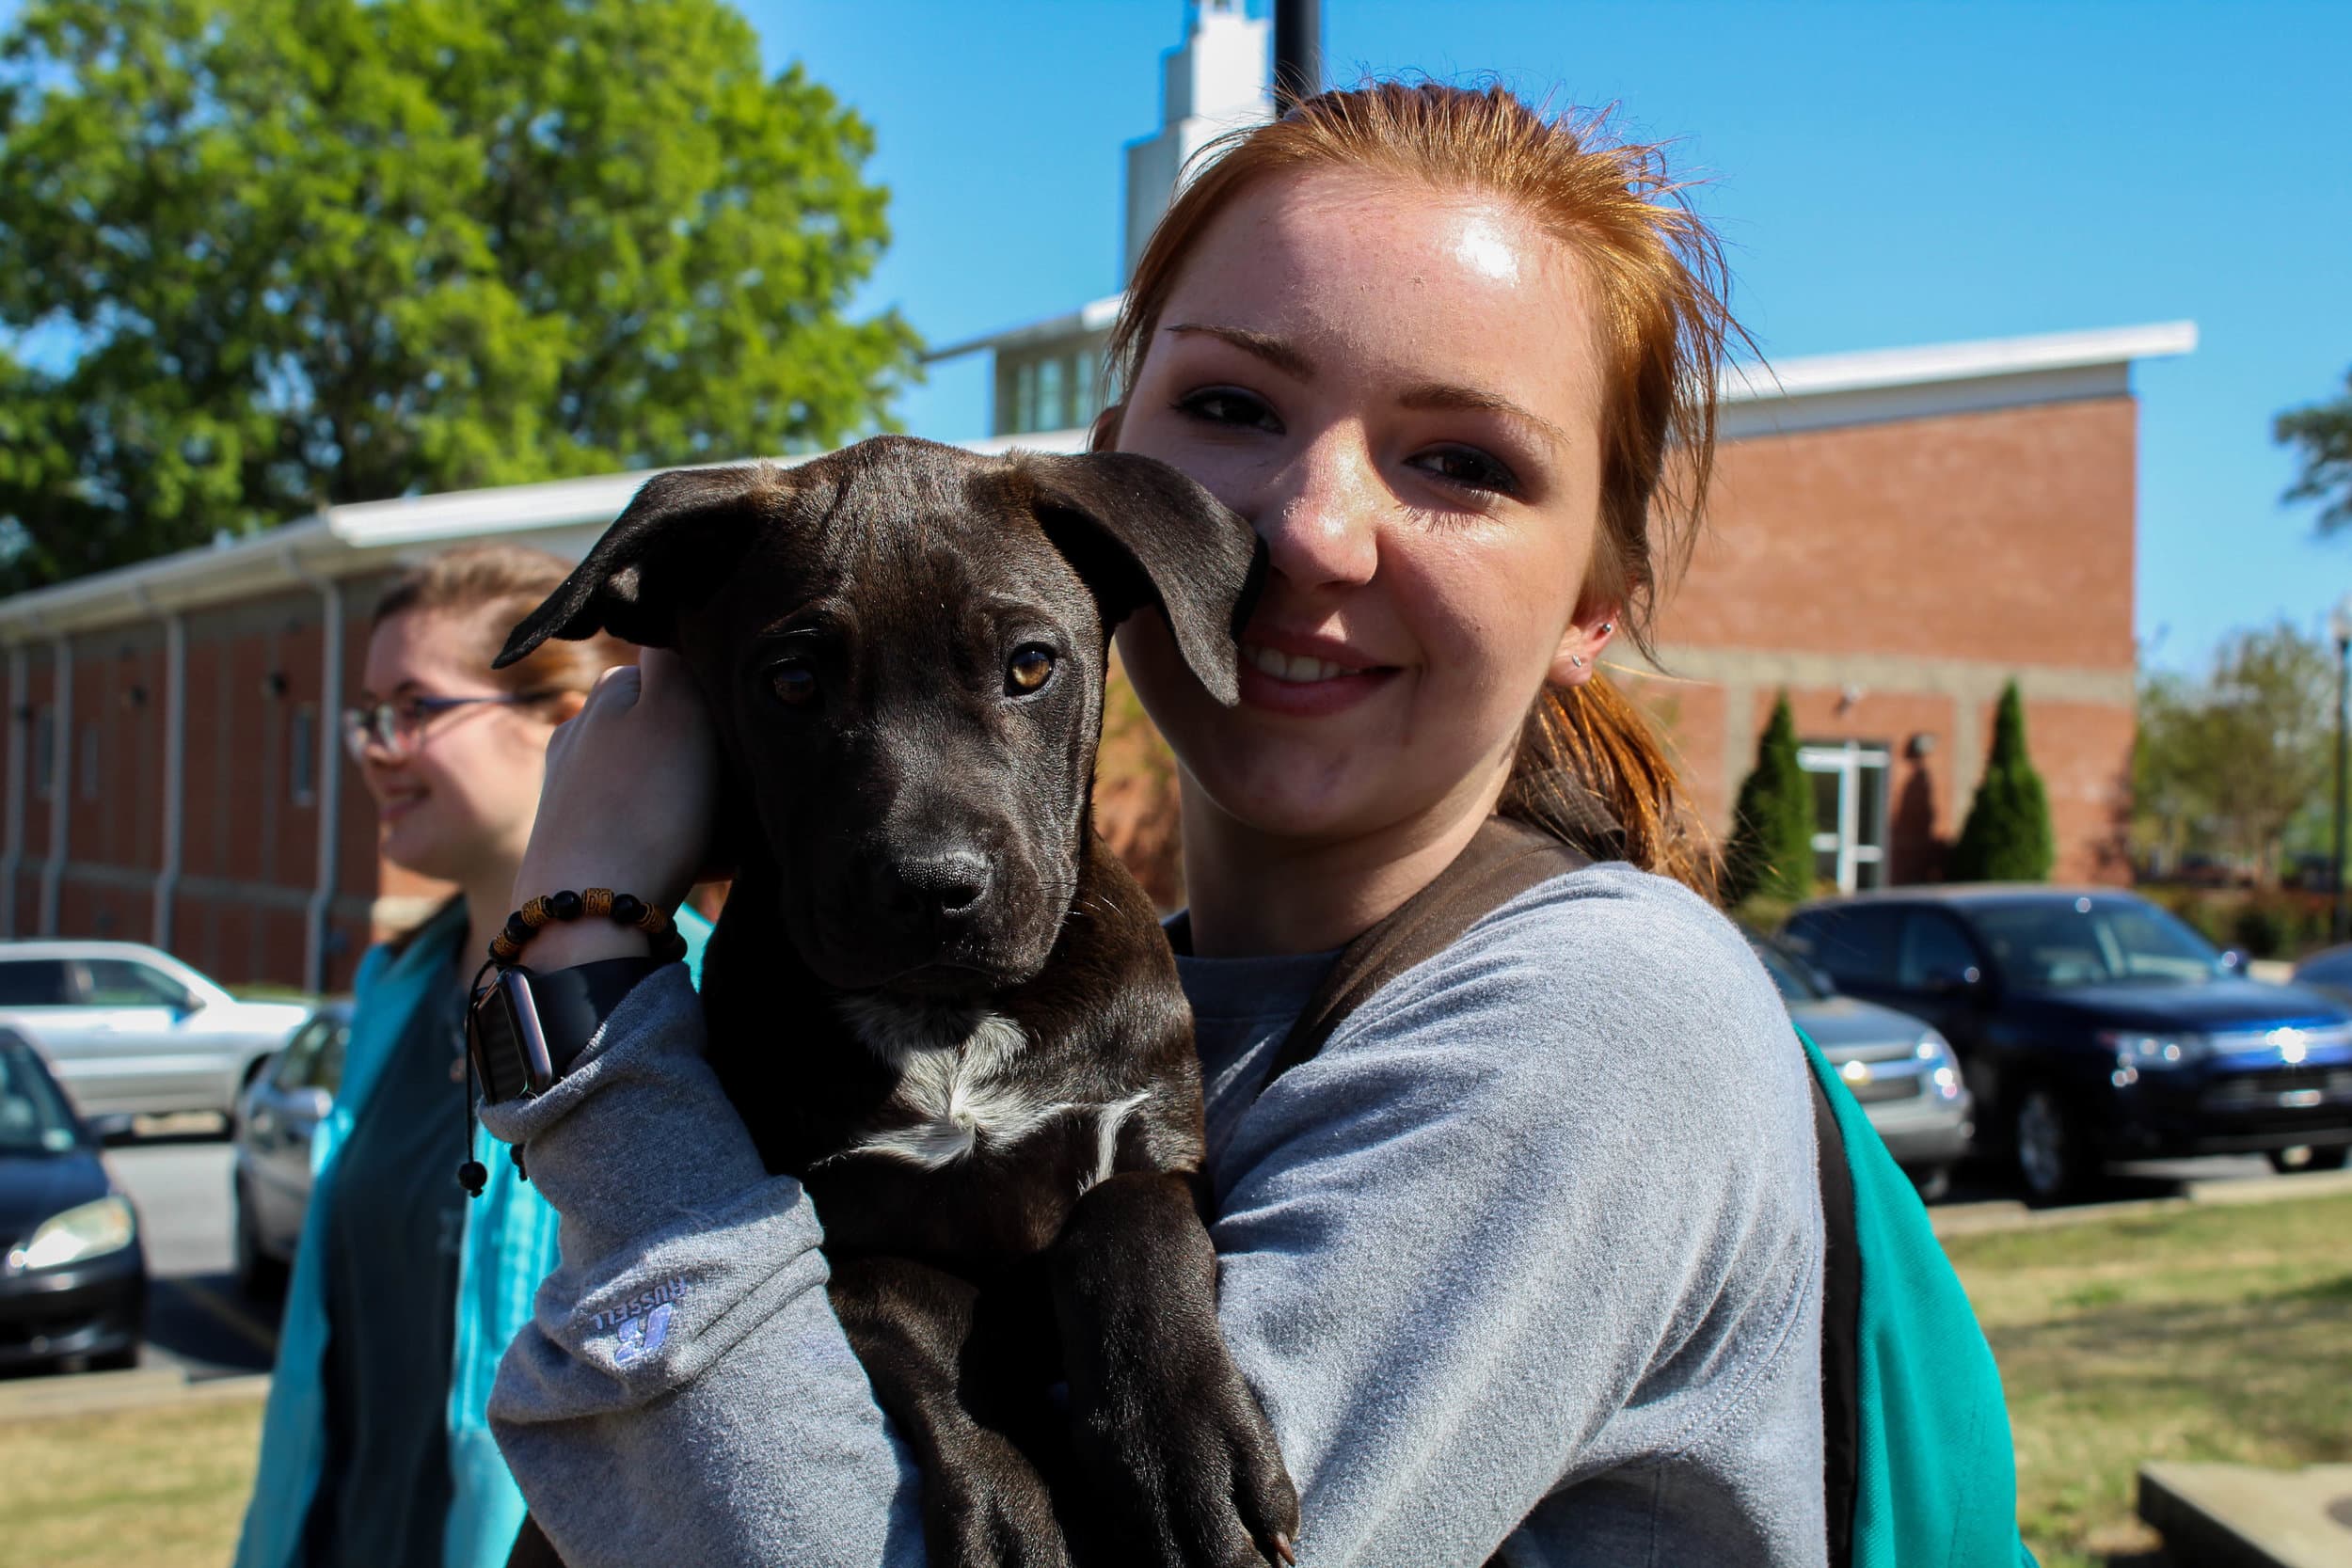
[[[1489,1561],[1559,1488],[1684,1486],[1755,1399],[1780,1429],[1670,1507],[1757,1542],[1719,1561],[1818,1556],[1804,1058],[1731,924],[1621,870],[1486,917],[1235,1126],[1221,1324],[1312,1568]]]

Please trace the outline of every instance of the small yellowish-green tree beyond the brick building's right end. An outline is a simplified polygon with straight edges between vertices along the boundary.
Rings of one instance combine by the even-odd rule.
[[[2336,661],[2288,623],[2237,632],[2201,677],[2140,682],[2131,755],[2143,846],[2216,853],[2277,882],[2296,818],[2328,799]]]

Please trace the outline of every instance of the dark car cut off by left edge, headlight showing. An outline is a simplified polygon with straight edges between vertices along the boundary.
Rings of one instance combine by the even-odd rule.
[[[0,1366],[132,1366],[146,1324],[139,1213],[40,1051],[0,1030]]]

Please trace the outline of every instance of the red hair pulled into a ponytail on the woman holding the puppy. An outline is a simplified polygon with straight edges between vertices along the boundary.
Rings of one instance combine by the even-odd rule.
[[[1134,388],[1160,315],[1209,223],[1247,188],[1327,169],[1472,190],[1566,244],[1592,280],[1602,350],[1599,531],[1585,602],[1653,654],[1658,602],[1698,541],[1715,463],[1715,381],[1729,341],[1722,247],[1665,172],[1658,146],[1602,122],[1545,120],[1503,87],[1371,82],[1301,101],[1272,125],[1202,150],[1136,263],[1105,376]],[[1103,409],[1096,444],[1117,440]],[[1715,891],[1715,853],[1639,708],[1595,675],[1545,686],[1529,710],[1501,809],[1599,856]]]

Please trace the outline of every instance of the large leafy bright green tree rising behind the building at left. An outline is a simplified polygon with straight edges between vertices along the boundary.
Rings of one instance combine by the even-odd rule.
[[[31,0],[0,341],[66,348],[0,360],[0,588],[887,423],[870,150],[720,0]]]

